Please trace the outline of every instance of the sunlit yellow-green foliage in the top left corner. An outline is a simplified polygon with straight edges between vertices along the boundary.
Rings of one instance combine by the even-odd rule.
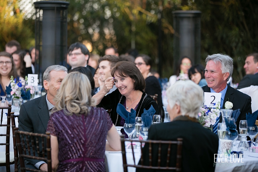
[[[20,0],[0,1],[0,51],[12,39],[21,44],[21,48],[34,46],[34,21],[25,20],[20,9]]]

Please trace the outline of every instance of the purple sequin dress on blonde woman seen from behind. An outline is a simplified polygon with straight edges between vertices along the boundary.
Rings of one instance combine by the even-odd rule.
[[[105,145],[112,121],[103,108],[90,107],[87,116],[50,116],[47,131],[58,137],[59,172],[100,171],[105,169]]]

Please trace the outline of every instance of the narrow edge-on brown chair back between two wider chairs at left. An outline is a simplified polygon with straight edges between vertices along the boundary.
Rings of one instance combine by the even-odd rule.
[[[14,115],[14,112],[11,112],[11,123],[12,123],[12,140],[13,140],[13,153],[14,153],[14,172],[18,172],[18,149],[16,146],[16,137],[14,133],[14,128],[16,128],[15,117],[19,117],[19,115]],[[19,120],[18,120],[19,121]]]

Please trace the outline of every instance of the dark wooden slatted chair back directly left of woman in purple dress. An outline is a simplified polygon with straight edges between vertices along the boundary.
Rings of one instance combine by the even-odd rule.
[[[25,136],[23,136],[25,135]],[[34,159],[34,160],[41,160],[45,161],[48,164],[48,172],[52,172],[52,161],[51,161],[51,144],[50,144],[50,132],[46,132],[46,134],[39,134],[39,133],[30,133],[25,131],[18,131],[18,128],[15,128],[15,136],[17,140],[17,147],[19,151],[19,159],[21,164],[21,172],[25,171],[38,171],[43,172],[41,170],[34,170],[29,169],[28,167],[25,168],[24,158]],[[24,142],[22,140],[31,140],[31,142]],[[22,149],[22,144],[26,143],[26,148],[29,149],[29,147],[32,147],[32,143],[36,142],[36,149],[35,150],[35,144],[34,148],[30,148],[30,151],[33,153],[29,153],[29,155],[26,153],[26,150]],[[39,145],[41,144],[41,145]],[[42,150],[39,149],[39,147],[42,146]],[[27,152],[30,152],[27,150]],[[37,151],[37,154],[35,156],[35,153]],[[46,154],[46,155],[45,155]]]

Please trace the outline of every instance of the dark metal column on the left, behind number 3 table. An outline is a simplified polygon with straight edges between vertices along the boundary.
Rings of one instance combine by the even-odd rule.
[[[37,1],[35,20],[35,47],[39,59],[35,61],[35,74],[42,75],[48,66],[64,64],[67,51],[67,8],[69,2]]]

